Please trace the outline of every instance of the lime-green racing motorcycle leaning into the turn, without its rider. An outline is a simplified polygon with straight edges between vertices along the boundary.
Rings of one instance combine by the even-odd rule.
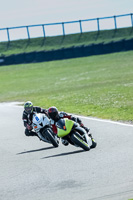
[[[97,145],[78,123],[70,119],[61,118],[56,122],[56,126],[58,137],[67,140],[72,145],[81,147],[85,151],[89,151]]]

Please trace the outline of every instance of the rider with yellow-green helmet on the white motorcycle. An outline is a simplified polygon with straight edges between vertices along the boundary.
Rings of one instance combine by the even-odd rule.
[[[25,127],[25,135],[26,136],[37,136],[37,134],[32,131],[32,117],[34,113],[44,113],[47,115],[47,109],[43,109],[41,107],[33,106],[31,101],[27,101],[24,104],[24,111],[22,115],[22,120]],[[38,137],[38,136],[37,136]]]

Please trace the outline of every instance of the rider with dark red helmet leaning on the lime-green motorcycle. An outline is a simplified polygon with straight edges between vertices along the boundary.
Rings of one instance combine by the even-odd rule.
[[[56,122],[60,119],[60,118],[68,118],[72,121],[77,122],[82,128],[84,128],[86,130],[86,132],[88,133],[88,135],[92,138],[92,135],[89,134],[89,129],[87,127],[84,126],[84,124],[82,123],[81,119],[79,119],[78,117],[73,117],[72,115],[67,114],[66,112],[58,112],[58,109],[54,106],[50,107],[48,109],[48,115],[51,118],[51,125],[53,128],[53,132],[55,134],[57,134],[57,128],[56,128]],[[67,140],[61,138],[62,144],[67,146],[69,143]]]

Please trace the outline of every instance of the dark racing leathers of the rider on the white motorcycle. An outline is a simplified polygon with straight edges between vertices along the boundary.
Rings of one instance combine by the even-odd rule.
[[[37,136],[37,134],[32,131],[32,118],[34,113],[44,113],[47,115],[47,109],[34,106],[33,112],[28,114],[25,110],[23,111],[22,120],[25,126],[25,135],[26,136]]]

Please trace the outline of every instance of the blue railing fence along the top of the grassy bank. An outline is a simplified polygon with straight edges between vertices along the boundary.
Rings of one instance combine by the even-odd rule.
[[[97,23],[97,28],[96,31],[100,31],[101,27],[100,27],[100,23],[102,20],[107,20],[107,19],[113,19],[113,28],[109,28],[109,29],[117,29],[118,28],[118,23],[117,23],[117,19],[118,18],[122,18],[122,17],[130,17],[130,25],[128,27],[133,27],[133,13],[130,14],[124,14],[124,15],[117,15],[117,16],[110,16],[110,17],[101,17],[101,18],[93,18],[93,19],[85,19],[85,20],[78,20],[78,21],[69,21],[69,22],[60,22],[60,23],[50,23],[50,24],[37,24],[37,25],[28,25],[28,26],[18,26],[18,27],[9,27],[9,28],[0,28],[0,33],[1,31],[6,31],[7,32],[7,39],[6,41],[10,42],[12,39],[10,37],[10,30],[14,30],[14,29],[25,29],[26,33],[27,33],[27,38],[30,40],[30,38],[32,38],[30,36],[30,28],[32,27],[42,27],[42,32],[43,32],[43,37],[46,37],[46,27],[48,26],[55,26],[55,25],[59,25],[62,28],[62,34],[63,36],[66,35],[66,27],[65,25],[67,24],[74,24],[74,23],[78,23],[79,24],[79,33],[83,33],[85,32],[83,30],[83,23],[84,22],[96,22]],[[89,31],[87,31],[89,32]],[[77,33],[77,32],[75,32]],[[22,39],[22,38],[20,38]],[[1,40],[1,36],[0,36],[0,41]]]

